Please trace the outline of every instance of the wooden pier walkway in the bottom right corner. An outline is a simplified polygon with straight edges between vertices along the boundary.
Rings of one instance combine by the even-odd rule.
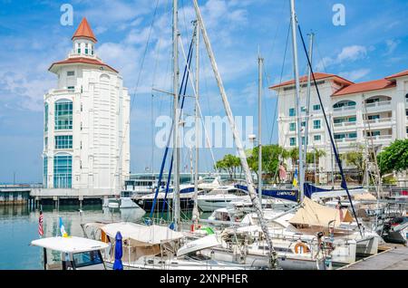
[[[408,247],[385,245],[384,251],[338,270],[408,270]]]

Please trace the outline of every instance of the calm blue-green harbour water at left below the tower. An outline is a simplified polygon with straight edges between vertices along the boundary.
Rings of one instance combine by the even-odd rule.
[[[68,235],[83,236],[82,222],[131,221],[140,222],[144,215],[140,209],[111,210],[102,206],[83,206],[82,216],[78,206],[43,206],[44,236],[54,236],[59,232],[58,219]],[[0,270],[43,269],[43,251],[30,246],[38,238],[39,210],[29,210],[27,206],[0,206]]]

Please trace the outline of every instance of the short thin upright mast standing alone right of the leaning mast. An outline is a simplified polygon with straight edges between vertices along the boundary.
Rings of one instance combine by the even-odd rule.
[[[262,205],[262,68],[264,59],[260,53],[257,56],[258,64],[258,87],[257,87],[257,137],[258,137],[258,160],[257,160],[257,193]]]

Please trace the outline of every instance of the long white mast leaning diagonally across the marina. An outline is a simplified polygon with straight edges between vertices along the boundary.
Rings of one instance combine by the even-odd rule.
[[[221,94],[222,102],[224,104],[224,109],[226,111],[227,117],[228,117],[228,122],[229,122],[229,127],[232,131],[232,135],[234,137],[235,145],[237,146],[238,150],[238,157],[241,162],[242,169],[244,170],[245,178],[247,180],[247,185],[248,185],[248,194],[249,197],[252,201],[252,204],[255,208],[255,212],[257,213],[257,218],[259,220],[259,225],[262,229],[262,232],[265,236],[265,239],[267,241],[267,246],[269,248],[270,252],[270,265],[272,268],[277,267],[277,253],[274,250],[273,244],[272,244],[272,239],[269,235],[269,231],[267,228],[267,223],[265,222],[262,207],[259,203],[259,198],[257,197],[257,192],[255,191],[254,183],[252,181],[252,175],[249,171],[248,167],[248,161],[247,161],[247,156],[245,155],[245,150],[242,145],[241,139],[239,138],[239,133],[237,126],[235,125],[235,120],[234,116],[232,115],[231,108],[229,106],[228,98],[227,98],[227,93],[224,89],[224,84],[222,83],[221,80],[221,75],[219,74],[219,68],[217,66],[217,62],[215,60],[214,53],[212,52],[211,48],[211,43],[209,43],[209,36],[207,34],[207,30],[205,28],[201,12],[199,11],[199,3],[197,0],[193,0],[194,3],[194,9],[196,10],[197,18],[199,20],[199,27],[202,32],[202,38],[204,40],[204,43],[206,44],[207,52],[209,53],[209,60],[211,62],[211,67],[214,72],[217,84],[219,86],[219,92]]]

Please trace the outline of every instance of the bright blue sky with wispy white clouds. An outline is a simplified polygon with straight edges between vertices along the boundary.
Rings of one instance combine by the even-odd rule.
[[[154,145],[155,121],[171,116],[172,103],[157,90],[172,90],[171,2],[0,0],[0,183],[12,182],[14,175],[20,183],[42,181],[44,93],[56,86],[48,68],[67,57],[83,17],[98,39],[96,54],[121,73],[131,94],[131,172],[160,168],[163,149]],[[64,4],[73,7],[73,25],[61,23]],[[345,8],[344,24],[334,24],[335,4]],[[235,116],[253,117],[255,134],[258,51],[265,59],[262,142],[277,143],[277,95],[267,86],[293,75],[290,38],[287,43],[289,0],[202,0],[199,5],[231,109]],[[179,0],[179,7],[181,69],[195,13],[190,0]],[[316,34],[316,72],[364,82],[408,69],[405,0],[298,0],[296,15],[305,36]],[[299,42],[299,70],[304,74],[306,58]],[[202,38],[199,61],[202,114],[224,117]],[[187,94],[193,91],[189,88]],[[193,105],[188,98],[186,115],[193,113]],[[214,149],[216,159],[225,153],[234,149]],[[183,171],[189,169],[188,149],[182,151],[181,165]],[[200,149],[199,167],[212,169],[209,149]]]

